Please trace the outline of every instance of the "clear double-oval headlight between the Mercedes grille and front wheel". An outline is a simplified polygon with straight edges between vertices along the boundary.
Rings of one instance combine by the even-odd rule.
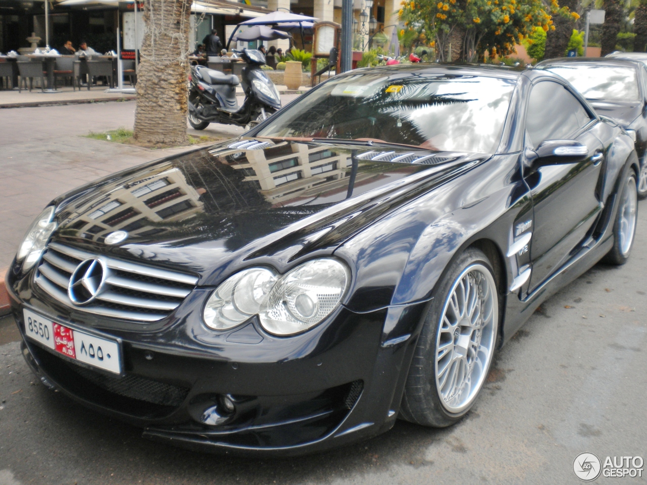
[[[281,276],[267,268],[243,270],[225,280],[204,307],[204,323],[225,330],[258,315],[263,328],[292,335],[317,325],[342,301],[351,274],[336,259],[314,259]]]

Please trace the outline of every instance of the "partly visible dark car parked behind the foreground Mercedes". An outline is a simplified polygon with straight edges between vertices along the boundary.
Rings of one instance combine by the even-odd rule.
[[[647,56],[644,52],[641,54]],[[620,59],[614,56],[550,59],[536,67],[562,76],[584,95],[595,111],[613,118],[630,133],[635,140],[641,164],[638,197],[646,198],[647,67],[644,63],[638,59]]]

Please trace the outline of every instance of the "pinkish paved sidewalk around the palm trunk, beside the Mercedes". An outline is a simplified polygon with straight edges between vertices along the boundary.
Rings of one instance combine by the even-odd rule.
[[[285,105],[297,96],[284,95],[281,100]],[[190,149],[149,150],[83,137],[90,131],[122,126],[131,129],[135,120],[132,101],[6,109],[0,113],[0,271],[10,264],[34,217],[54,197],[115,171]],[[193,136],[222,139],[235,138],[243,131],[218,124],[204,131],[188,129]]]

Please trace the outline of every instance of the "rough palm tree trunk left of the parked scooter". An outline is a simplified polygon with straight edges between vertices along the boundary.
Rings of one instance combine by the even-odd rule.
[[[137,71],[135,140],[184,145],[189,0],[144,0],[144,41]]]

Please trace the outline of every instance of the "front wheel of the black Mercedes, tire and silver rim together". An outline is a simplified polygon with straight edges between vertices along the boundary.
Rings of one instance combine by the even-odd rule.
[[[488,257],[468,248],[439,282],[411,361],[400,416],[445,427],[474,405],[487,378],[499,327]]]

